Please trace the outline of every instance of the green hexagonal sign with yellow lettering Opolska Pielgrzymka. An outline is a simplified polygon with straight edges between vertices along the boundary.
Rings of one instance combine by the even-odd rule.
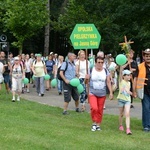
[[[76,24],[70,40],[74,49],[98,49],[101,35],[94,24]]]

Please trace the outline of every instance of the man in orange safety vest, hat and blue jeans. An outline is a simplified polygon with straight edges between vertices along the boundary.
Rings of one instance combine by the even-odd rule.
[[[150,132],[150,49],[143,51],[144,62],[138,66],[138,76],[134,80],[134,96],[142,101],[143,131]],[[137,91],[137,92],[136,92]]]

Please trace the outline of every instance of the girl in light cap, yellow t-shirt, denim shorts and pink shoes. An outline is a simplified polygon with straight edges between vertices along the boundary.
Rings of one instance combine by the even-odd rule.
[[[118,105],[119,105],[119,130],[124,131],[123,127],[123,114],[126,117],[126,134],[131,135],[130,130],[130,103],[132,92],[130,91],[130,77],[131,72],[129,70],[123,70],[120,68],[120,81],[119,81],[119,94],[118,94]]]

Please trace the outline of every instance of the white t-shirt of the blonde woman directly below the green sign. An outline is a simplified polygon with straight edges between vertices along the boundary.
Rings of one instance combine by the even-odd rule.
[[[79,66],[79,60],[75,63],[75,65]],[[79,70],[79,78],[85,78],[86,73],[86,60],[81,61],[80,60],[80,66],[79,66],[80,70]],[[88,73],[90,70],[90,62],[88,61]]]

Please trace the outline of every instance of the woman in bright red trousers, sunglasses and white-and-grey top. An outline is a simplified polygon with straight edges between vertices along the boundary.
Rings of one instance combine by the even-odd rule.
[[[104,58],[95,58],[95,67],[90,76],[89,103],[91,109],[91,131],[101,130],[100,124],[103,117],[103,107],[106,100],[106,84],[109,88],[109,98],[113,99],[109,72],[103,68]]]

